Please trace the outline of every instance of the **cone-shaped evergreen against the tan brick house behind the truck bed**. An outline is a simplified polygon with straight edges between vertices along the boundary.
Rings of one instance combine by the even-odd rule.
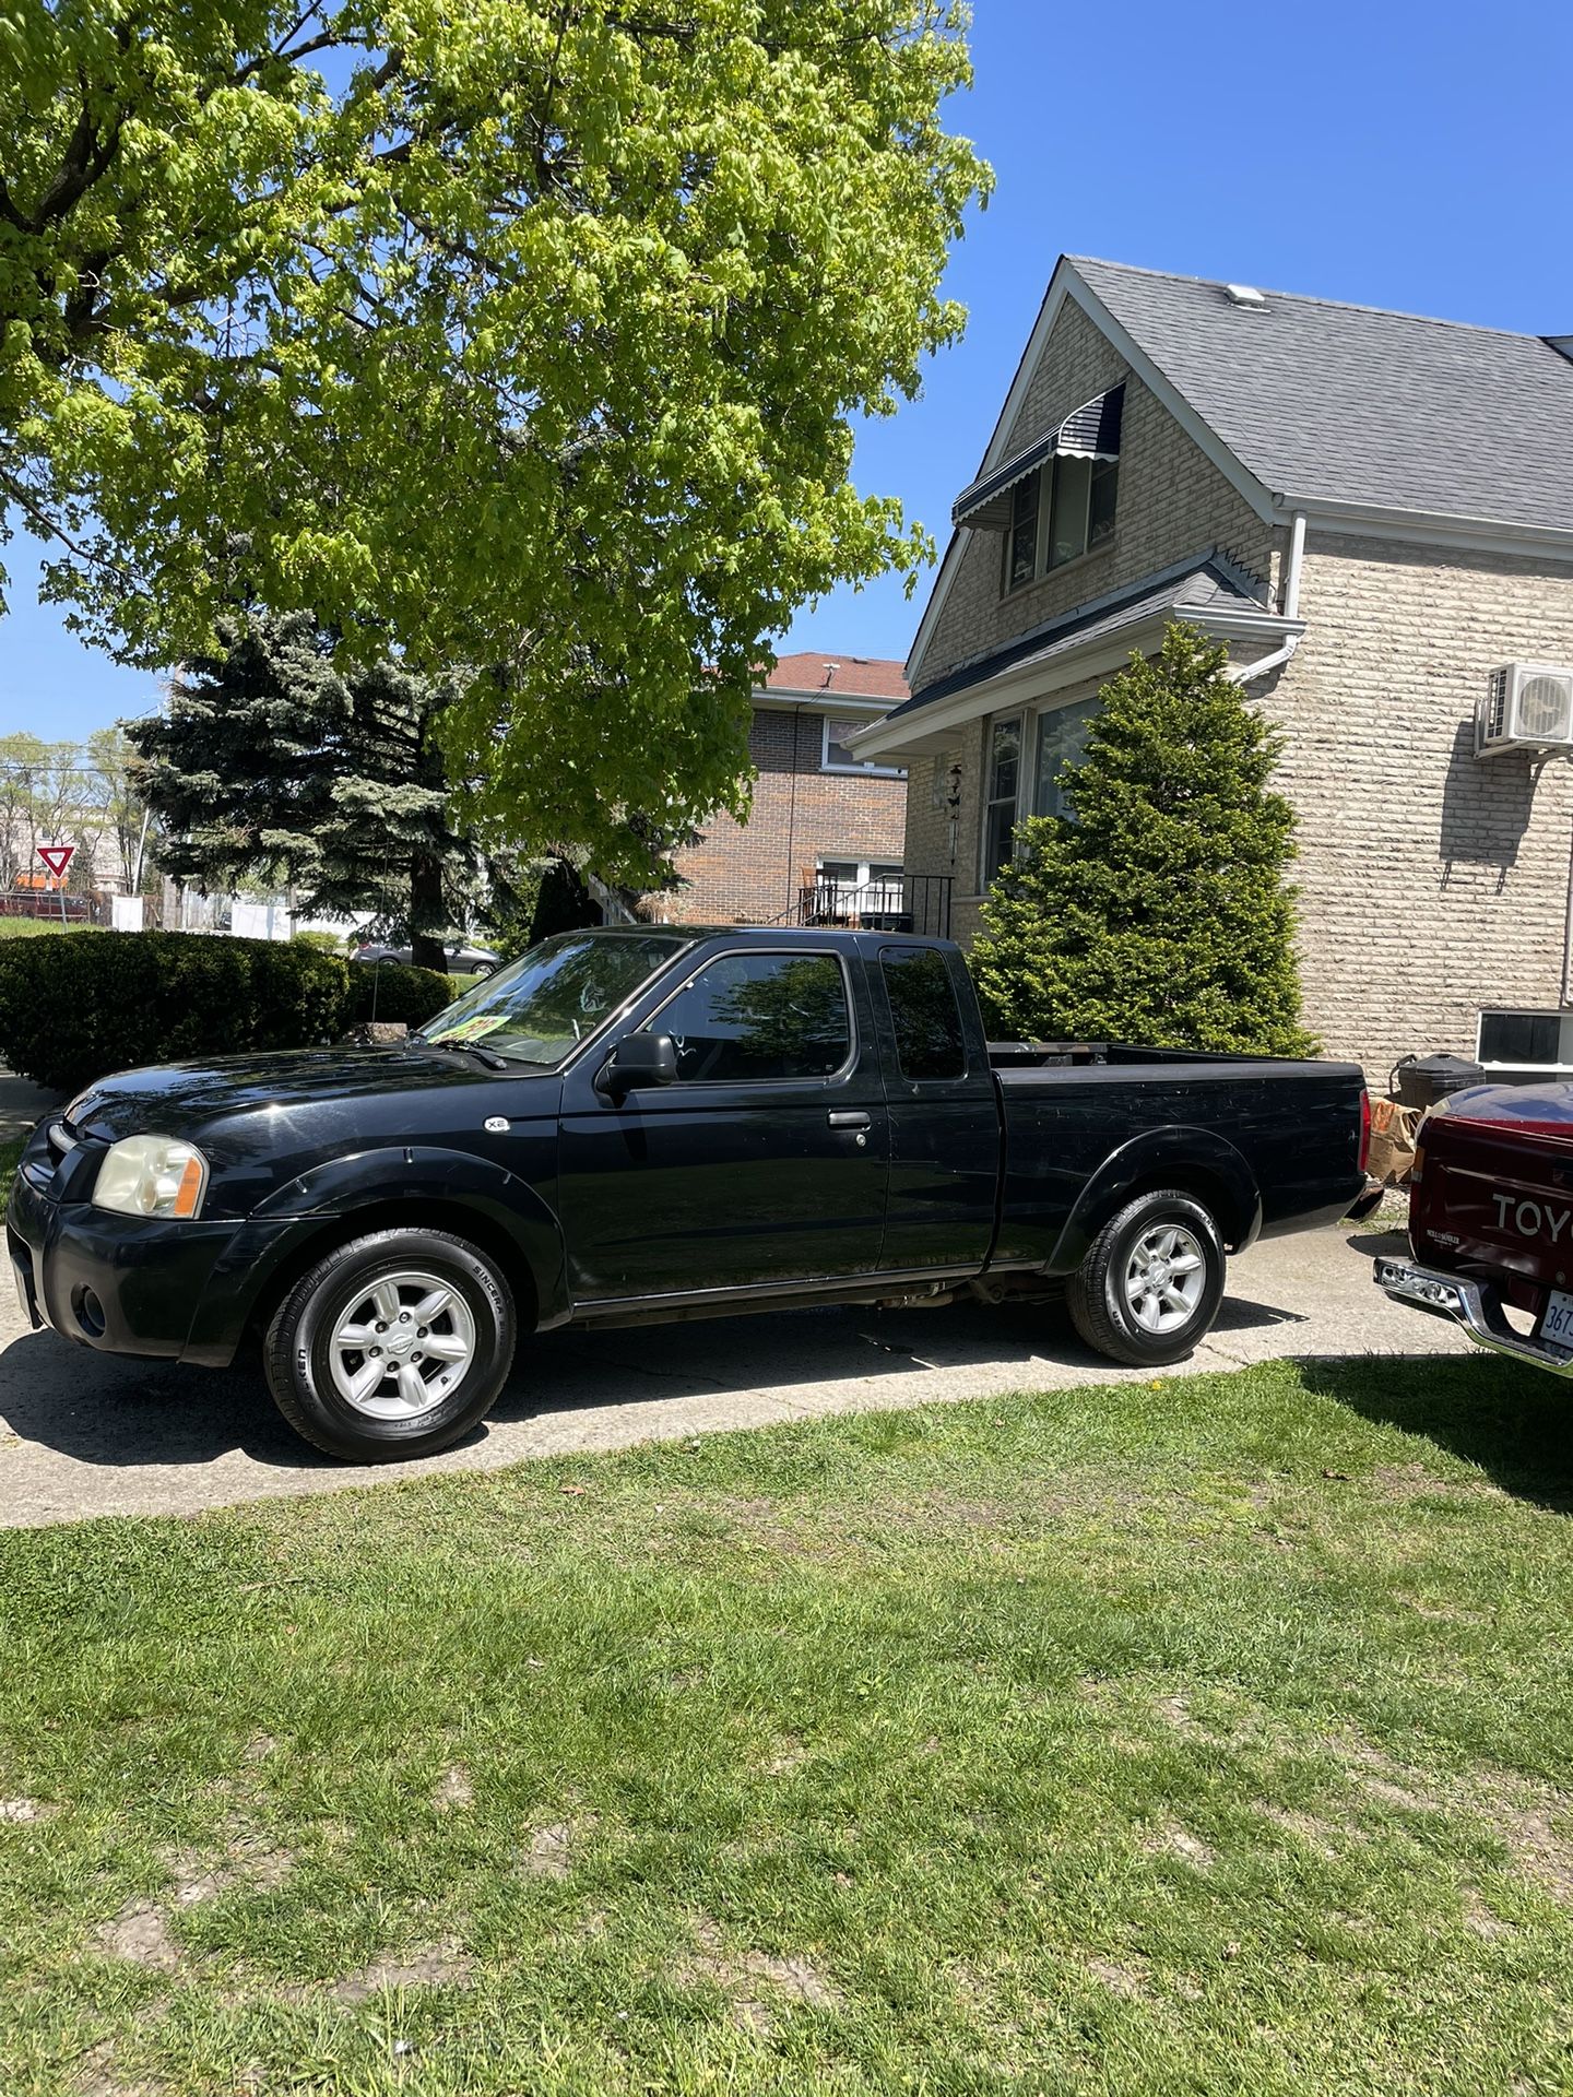
[[[1072,816],[1021,824],[971,965],[1009,1038],[1311,1055],[1294,958],[1294,812],[1277,740],[1172,625],[1103,688]]]

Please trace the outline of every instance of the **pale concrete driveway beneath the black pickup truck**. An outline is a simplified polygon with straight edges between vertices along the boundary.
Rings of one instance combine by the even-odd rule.
[[[1273,1239],[1229,1271],[1204,1348],[1168,1376],[1279,1355],[1466,1353],[1451,1327],[1399,1311],[1372,1285],[1370,1229]],[[352,1468],[300,1443],[260,1371],[113,1361],[27,1332],[0,1306],[0,1527],[325,1493],[426,1470],[497,1470],[531,1455],[766,1426],[818,1413],[929,1405],[1139,1376],[1089,1355],[1053,1309],[795,1311],[550,1334],[520,1350],[487,1426],[419,1464]]]

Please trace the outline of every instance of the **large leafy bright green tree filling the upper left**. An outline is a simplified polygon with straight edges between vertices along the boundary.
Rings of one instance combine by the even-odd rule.
[[[961,325],[963,25],[0,0],[0,491],[50,591],[151,663],[250,598],[499,665],[457,770],[642,879],[631,809],[742,803],[768,635],[927,552],[852,421]]]

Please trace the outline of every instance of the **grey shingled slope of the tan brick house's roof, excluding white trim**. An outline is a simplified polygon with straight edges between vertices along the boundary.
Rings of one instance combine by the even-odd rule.
[[[1275,501],[1573,524],[1573,363],[1548,340],[1065,262]]]

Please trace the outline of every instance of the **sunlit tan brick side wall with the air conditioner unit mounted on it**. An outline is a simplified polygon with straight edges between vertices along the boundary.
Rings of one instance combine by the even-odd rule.
[[[1573,663],[1573,568],[1311,533],[1307,637],[1260,694],[1300,818],[1309,1023],[1388,1065],[1474,1053],[1481,1007],[1563,1002],[1567,757],[1477,761],[1500,663]]]

